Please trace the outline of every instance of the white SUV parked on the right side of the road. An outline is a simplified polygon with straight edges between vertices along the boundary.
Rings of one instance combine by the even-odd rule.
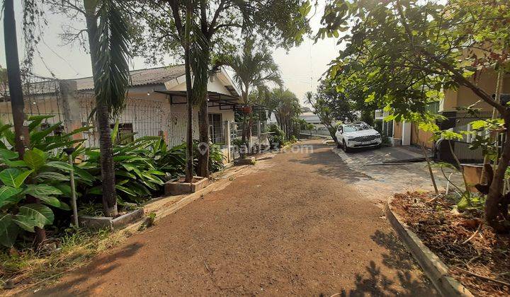
[[[338,146],[344,151],[351,151],[353,148],[380,147],[382,138],[379,132],[365,122],[353,122],[341,124],[336,130]]]

